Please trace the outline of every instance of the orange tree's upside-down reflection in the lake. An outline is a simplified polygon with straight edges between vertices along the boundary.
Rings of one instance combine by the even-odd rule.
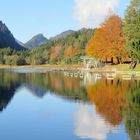
[[[112,125],[122,121],[122,108],[125,105],[125,93],[131,88],[132,82],[120,79],[102,79],[95,85],[87,85],[87,93],[96,110]]]

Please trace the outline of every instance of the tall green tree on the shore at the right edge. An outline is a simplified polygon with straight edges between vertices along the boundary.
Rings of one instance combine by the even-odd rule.
[[[140,60],[140,0],[131,0],[126,10],[123,35],[126,48],[136,63]]]

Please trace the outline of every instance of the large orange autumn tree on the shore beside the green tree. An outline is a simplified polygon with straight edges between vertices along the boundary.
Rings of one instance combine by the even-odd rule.
[[[86,54],[102,60],[116,58],[126,55],[124,50],[125,40],[121,34],[122,20],[116,15],[111,15],[98,28],[95,35],[86,47]]]

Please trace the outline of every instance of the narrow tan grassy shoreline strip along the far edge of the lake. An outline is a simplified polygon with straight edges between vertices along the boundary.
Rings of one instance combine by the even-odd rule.
[[[0,70],[12,70],[12,69],[32,69],[32,68],[46,68],[58,71],[85,71],[85,72],[140,72],[140,64],[134,70],[129,70],[129,64],[120,65],[108,65],[102,69],[86,69],[83,65],[24,65],[24,66],[11,66],[11,65],[0,65]]]

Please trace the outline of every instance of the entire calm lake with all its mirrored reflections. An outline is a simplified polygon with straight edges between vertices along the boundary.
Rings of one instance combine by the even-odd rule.
[[[2,140],[138,140],[140,81],[0,71]]]

